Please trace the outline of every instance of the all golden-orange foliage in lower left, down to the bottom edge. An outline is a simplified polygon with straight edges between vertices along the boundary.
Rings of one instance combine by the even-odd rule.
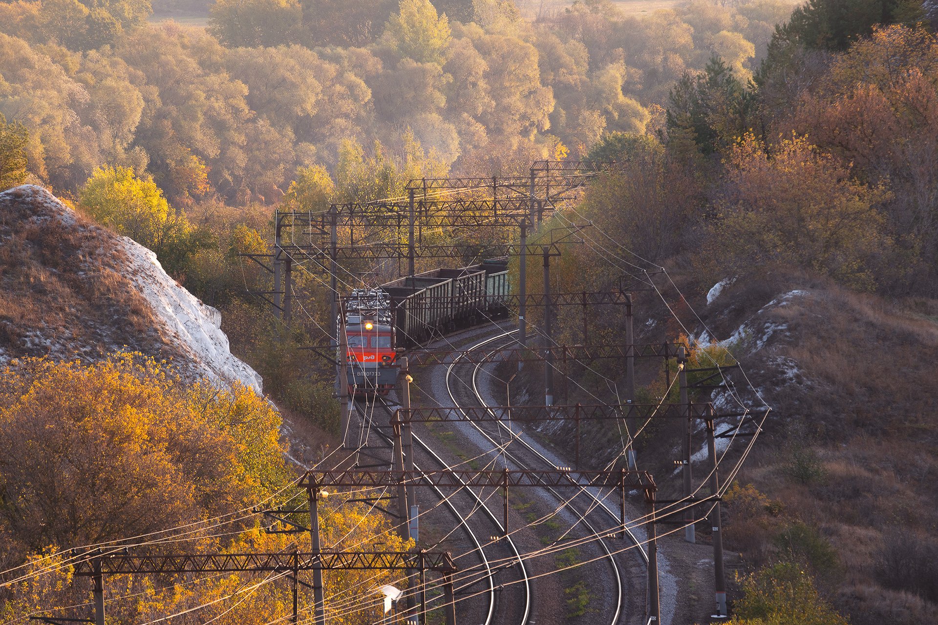
[[[0,369],[0,621],[64,605],[87,616],[90,587],[73,577],[68,547],[125,539],[134,553],[309,552],[308,532],[267,534],[251,512],[305,500],[284,451],[280,415],[243,386],[189,383],[140,354],[12,361]],[[321,507],[325,548],[413,546],[383,514],[341,499]],[[337,623],[363,622],[377,588],[400,576],[328,572],[327,606],[342,610]],[[280,573],[110,575],[105,601],[113,623],[263,625],[289,618],[292,588]],[[300,605],[312,605],[306,587]]]

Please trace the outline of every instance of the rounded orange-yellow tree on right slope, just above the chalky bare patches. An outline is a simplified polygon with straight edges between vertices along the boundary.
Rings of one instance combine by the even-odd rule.
[[[855,180],[850,165],[794,135],[766,150],[747,133],[727,170],[703,253],[716,273],[785,266],[875,288],[873,269],[890,243],[879,208],[885,186]]]

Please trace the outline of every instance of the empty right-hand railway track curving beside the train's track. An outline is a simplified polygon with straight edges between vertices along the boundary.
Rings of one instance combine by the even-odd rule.
[[[485,346],[489,346],[489,345],[499,343],[499,342],[504,342],[507,345],[514,341],[514,339],[512,338],[512,335],[514,335],[515,333],[517,333],[517,331],[508,331],[500,335],[486,338],[485,340],[482,340],[476,343],[475,345],[473,345],[472,347],[470,347],[469,350],[479,350]],[[505,346],[503,345],[502,347],[505,347]],[[481,359],[482,362],[473,366],[472,373],[471,373],[468,383],[464,379],[459,380],[461,381],[462,385],[465,387],[464,391],[469,392],[471,399],[474,400],[474,403],[477,406],[482,406],[482,407],[488,406],[488,404],[486,403],[484,397],[482,396],[479,390],[478,377],[479,377],[479,373],[483,371],[483,363],[485,361],[488,361],[492,357],[492,354],[498,352],[499,349],[489,350],[488,353],[486,354],[486,357]],[[447,391],[447,394],[449,394],[449,398],[452,401],[454,407],[456,407],[457,409],[460,409],[460,406],[461,406],[460,401],[457,398],[457,395],[461,394],[461,391],[458,388],[454,389],[453,380],[458,379],[458,376],[456,375],[455,370],[458,367],[460,367],[460,363],[459,363],[460,360],[461,360],[461,355],[457,356],[454,359],[453,363],[446,366],[446,391]],[[462,405],[466,405],[466,404],[462,404]],[[522,436],[522,432],[520,432],[519,430],[513,429],[510,426],[510,424],[504,424],[502,422],[494,422],[494,427],[496,428],[496,431],[492,432],[492,430],[488,429],[486,426],[483,426],[482,424],[478,424],[472,421],[471,419],[469,419],[464,412],[462,412],[462,416],[463,418],[465,418],[465,420],[469,424],[472,425],[472,427],[482,437],[487,439],[492,444],[493,448],[497,449],[502,444],[504,444],[501,441],[504,441],[506,436],[508,439],[512,440],[513,443],[516,443],[517,445],[520,445],[522,447],[521,450],[517,450],[516,448],[516,451],[514,453],[511,453],[507,450],[504,451],[504,458],[505,458],[506,466],[508,466],[508,463],[510,463],[511,465],[513,465],[512,468],[514,469],[533,469],[535,468],[535,465],[538,465],[541,468],[543,468],[546,465],[547,468],[558,469],[558,467],[554,464],[554,462],[552,462],[551,459],[549,459],[545,454],[542,454],[540,451],[538,451],[537,448],[534,445],[532,445],[530,442],[525,440],[524,437]],[[486,424],[486,425],[489,425],[489,424]],[[577,484],[572,479],[570,480],[570,482],[571,484]],[[624,614],[626,603],[627,603],[626,602],[627,598],[625,597],[626,580],[624,580],[624,577],[623,577],[622,567],[620,567],[619,563],[616,561],[616,558],[614,557],[614,554],[621,551],[621,548],[617,547],[617,548],[611,549],[609,544],[607,544],[607,540],[605,538],[605,536],[608,534],[608,529],[607,530],[602,529],[606,525],[608,525],[609,520],[612,521],[613,526],[618,525],[619,523],[618,512],[616,511],[613,513],[613,511],[609,508],[609,506],[606,504],[606,501],[605,501],[605,499],[607,499],[610,494],[602,493],[600,489],[598,488],[587,488],[581,485],[577,495],[571,499],[568,496],[565,497],[564,494],[557,492],[556,490],[550,487],[545,487],[545,488],[548,492],[552,494],[552,496],[555,499],[557,499],[561,503],[563,508],[567,509],[567,511],[569,511],[570,513],[574,515],[576,524],[581,526],[582,528],[585,528],[587,532],[587,537],[591,536],[592,538],[594,538],[595,543],[598,544],[598,547],[602,551],[602,554],[604,556],[603,560],[608,564],[608,567],[609,567],[608,574],[612,577],[612,580],[613,580],[613,585],[612,585],[613,589],[609,593],[609,600],[611,603],[611,608],[604,610],[605,614],[607,615],[608,622],[610,622],[612,625],[617,625],[619,623],[624,623],[624,622],[640,622],[641,620],[643,620],[643,619],[634,618],[634,617],[628,618],[628,615]],[[583,506],[584,512],[581,512],[581,510],[576,505],[574,505],[574,502],[578,499],[587,500],[587,503]],[[597,521],[598,528],[599,528],[598,529],[597,526],[590,523],[590,521],[587,519],[587,516],[590,516],[591,514],[598,514],[600,516],[608,517],[608,519],[603,518],[602,521]],[[606,522],[606,523],[603,523],[603,522]],[[628,528],[627,528],[627,534],[628,534],[628,540],[636,546],[636,551],[639,554],[639,558],[642,560],[643,565],[646,567],[647,566],[647,554],[644,552],[641,542],[636,539],[634,534],[632,534],[631,530]],[[631,593],[631,594],[633,595],[631,607],[634,610],[635,608],[639,607],[639,605],[637,605],[634,600],[635,593]],[[641,602],[641,603],[644,603],[644,602]],[[643,609],[641,610],[640,614],[644,614]]]

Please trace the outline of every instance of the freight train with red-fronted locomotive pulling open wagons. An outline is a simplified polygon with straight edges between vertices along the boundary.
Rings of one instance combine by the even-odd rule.
[[[397,384],[397,355],[433,336],[507,315],[506,259],[401,277],[344,298],[350,394],[387,394]]]

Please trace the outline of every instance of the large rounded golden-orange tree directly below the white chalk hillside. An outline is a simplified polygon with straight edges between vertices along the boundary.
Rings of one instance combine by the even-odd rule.
[[[280,416],[140,354],[0,371],[0,509],[29,550],[172,528],[287,484]]]

